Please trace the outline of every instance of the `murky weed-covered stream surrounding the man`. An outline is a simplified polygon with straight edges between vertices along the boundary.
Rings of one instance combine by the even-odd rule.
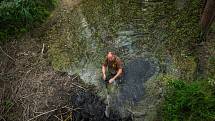
[[[162,63],[159,58],[167,33],[153,23],[156,17],[151,13],[160,4],[148,0],[83,0],[62,15],[66,24],[52,30],[58,33],[50,45],[54,50],[49,52],[52,65],[98,87],[96,93],[80,91],[71,96],[72,105],[83,107],[74,120],[150,121],[157,115],[162,89],[156,77],[174,71],[167,66],[171,58],[162,58]],[[123,60],[125,74],[119,84],[106,88],[101,65],[108,51]]]

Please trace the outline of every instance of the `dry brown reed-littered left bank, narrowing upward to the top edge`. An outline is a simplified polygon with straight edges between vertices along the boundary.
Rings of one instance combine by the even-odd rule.
[[[56,72],[50,65],[47,42],[41,35],[55,22],[55,14],[78,3],[62,0],[48,22],[19,41],[0,48],[0,120],[70,120],[69,96],[81,86],[78,76]]]

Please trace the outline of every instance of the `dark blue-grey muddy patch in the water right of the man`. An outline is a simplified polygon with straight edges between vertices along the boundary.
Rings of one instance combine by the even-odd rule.
[[[156,72],[153,63],[144,58],[130,61],[125,67],[125,75],[120,89],[122,101],[137,103],[144,96],[144,82]]]

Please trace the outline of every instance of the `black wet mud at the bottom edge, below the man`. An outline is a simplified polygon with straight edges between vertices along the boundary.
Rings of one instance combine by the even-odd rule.
[[[71,105],[77,108],[73,115],[74,121],[132,121],[131,116],[122,118],[116,110],[111,110],[109,117],[106,117],[106,104],[91,92],[72,94]]]

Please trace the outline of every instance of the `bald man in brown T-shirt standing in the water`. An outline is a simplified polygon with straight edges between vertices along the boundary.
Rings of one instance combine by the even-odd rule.
[[[108,76],[106,76],[108,70]],[[102,65],[102,78],[108,80],[108,83],[113,83],[123,74],[123,62],[113,52],[108,52],[105,62]]]

